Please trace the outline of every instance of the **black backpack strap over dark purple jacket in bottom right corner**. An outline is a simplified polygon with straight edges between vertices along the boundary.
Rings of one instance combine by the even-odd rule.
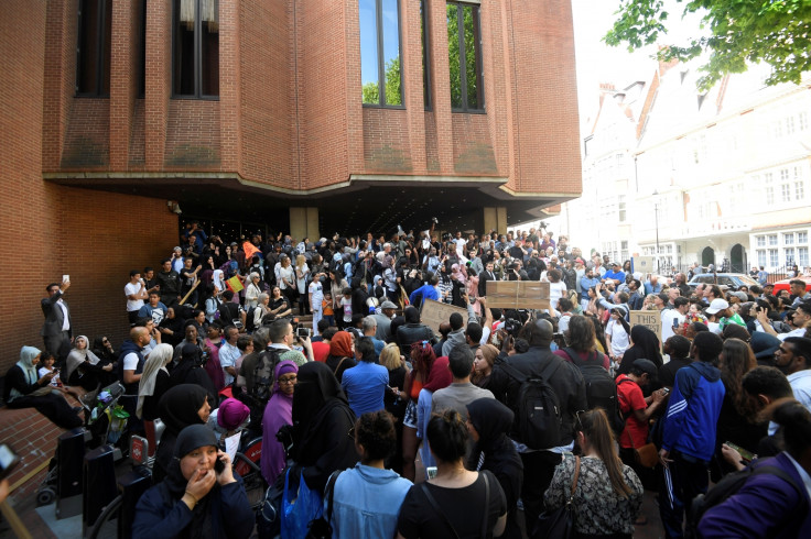
[[[800,514],[800,509],[802,509],[802,513],[808,510],[804,507],[807,505],[804,487],[801,488],[789,474],[787,474],[779,468],[770,466],[768,464],[758,465],[758,462],[756,461],[753,462],[748,468],[746,468],[746,470],[733,472],[725,475],[706,494],[699,494],[693,498],[693,503],[690,506],[690,510],[688,512],[688,522],[684,529],[684,537],[689,539],[700,537],[699,524],[701,522],[701,518],[704,516],[704,514],[716,505],[726,502],[729,496],[735,495],[740,488],[743,488],[746,482],[749,481],[749,477],[761,473],[770,473],[772,475],[777,475],[786,483],[788,483],[799,495],[800,506],[787,507],[787,515]]]

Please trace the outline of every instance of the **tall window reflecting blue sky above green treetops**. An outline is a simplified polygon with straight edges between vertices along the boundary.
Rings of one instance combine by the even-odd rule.
[[[364,105],[402,106],[399,0],[360,0]]]

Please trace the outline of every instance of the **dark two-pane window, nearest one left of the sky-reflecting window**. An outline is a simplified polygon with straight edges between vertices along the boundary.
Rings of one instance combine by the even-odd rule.
[[[219,1],[174,0],[172,92],[219,96]]]

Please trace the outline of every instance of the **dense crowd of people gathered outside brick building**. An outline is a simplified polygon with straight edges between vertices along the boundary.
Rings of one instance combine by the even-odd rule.
[[[154,447],[162,420],[134,537],[250,534],[217,436],[238,427],[262,437],[268,484],[300,473],[334,498],[335,537],[531,536],[570,496],[577,537],[631,537],[650,490],[678,538],[710,476],[760,464],[782,473],[707,508],[699,536],[811,534],[802,279],[779,295],[692,288],[547,230],[439,234],[435,222],[388,239],[230,243],[190,223],[160,267],[130,272],[118,351],[74,338],[69,278],[48,285],[45,350],[24,346],[6,377],[9,406],[65,428],[83,411],[58,393],[116,381],[131,432]],[[547,282],[550,308],[491,308],[489,280]],[[431,328],[429,299],[461,309]],[[659,311],[661,331],[631,327],[636,310]],[[312,327],[296,318],[310,315]]]

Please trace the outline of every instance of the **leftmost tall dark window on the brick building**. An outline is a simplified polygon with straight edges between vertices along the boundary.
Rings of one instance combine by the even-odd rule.
[[[80,0],[76,46],[76,95],[110,95],[112,0]]]

